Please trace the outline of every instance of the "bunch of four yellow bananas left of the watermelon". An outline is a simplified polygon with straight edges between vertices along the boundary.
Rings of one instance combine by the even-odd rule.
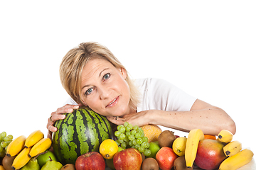
[[[8,157],[14,157],[12,169],[21,169],[25,166],[32,157],[45,152],[51,145],[49,138],[44,138],[41,130],[36,130],[31,133],[27,138],[23,135],[13,140],[6,150]]]

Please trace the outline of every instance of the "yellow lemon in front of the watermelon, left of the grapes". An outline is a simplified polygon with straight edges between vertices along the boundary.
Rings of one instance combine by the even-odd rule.
[[[100,144],[100,154],[105,159],[112,159],[117,151],[118,145],[114,140],[107,139]]]

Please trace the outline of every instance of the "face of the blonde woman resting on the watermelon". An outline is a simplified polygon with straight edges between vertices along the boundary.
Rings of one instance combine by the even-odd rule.
[[[82,69],[82,102],[100,115],[129,113],[127,72],[107,60],[93,59]]]

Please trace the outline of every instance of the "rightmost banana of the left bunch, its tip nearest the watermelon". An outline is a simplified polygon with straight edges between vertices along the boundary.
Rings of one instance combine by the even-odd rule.
[[[49,138],[43,138],[39,142],[36,143],[29,152],[28,157],[35,157],[42,152],[45,152],[51,145],[51,140]]]

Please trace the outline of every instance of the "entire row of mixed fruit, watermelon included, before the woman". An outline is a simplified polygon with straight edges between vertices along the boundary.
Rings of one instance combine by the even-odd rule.
[[[243,149],[233,134],[221,130],[218,138],[191,130],[179,137],[157,125],[138,127],[124,123],[112,128],[105,117],[81,108],[55,123],[53,141],[36,130],[28,137],[13,140],[0,134],[0,170],[235,170],[252,160],[250,149]],[[49,149],[53,147],[54,152]]]

